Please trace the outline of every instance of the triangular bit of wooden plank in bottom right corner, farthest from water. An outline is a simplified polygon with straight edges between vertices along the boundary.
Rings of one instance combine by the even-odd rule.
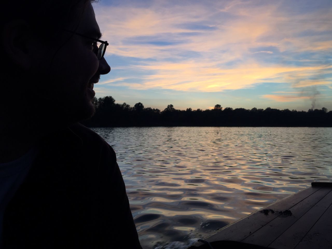
[[[332,248],[332,205],[298,243],[295,249],[330,249]]]

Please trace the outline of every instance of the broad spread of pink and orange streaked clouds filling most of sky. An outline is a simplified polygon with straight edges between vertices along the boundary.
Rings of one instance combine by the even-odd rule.
[[[97,4],[97,21],[110,43],[106,53],[138,58],[121,68],[128,74],[140,72],[137,81],[124,77],[103,84],[121,81],[132,89],[201,92],[266,82],[330,87],[331,61],[321,58],[332,54],[331,6],[290,12],[283,4],[287,5],[239,0]],[[305,98],[265,96],[276,101]]]

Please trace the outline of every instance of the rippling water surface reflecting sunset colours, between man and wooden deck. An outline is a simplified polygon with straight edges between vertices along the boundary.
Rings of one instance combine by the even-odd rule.
[[[117,153],[143,248],[185,248],[332,176],[332,128],[93,128]]]

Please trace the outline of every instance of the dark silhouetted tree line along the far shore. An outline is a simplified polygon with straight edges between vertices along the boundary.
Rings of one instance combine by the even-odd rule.
[[[164,110],[117,104],[111,96],[93,100],[96,113],[82,123],[89,127],[126,126],[311,126],[332,127],[332,111],[326,108],[305,111],[222,108],[217,104],[210,110],[176,110],[168,105]]]

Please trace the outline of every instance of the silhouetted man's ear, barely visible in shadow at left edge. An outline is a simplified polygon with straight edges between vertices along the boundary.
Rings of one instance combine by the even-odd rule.
[[[23,20],[15,20],[4,25],[1,43],[7,57],[18,69],[31,67],[31,39],[29,25]]]

